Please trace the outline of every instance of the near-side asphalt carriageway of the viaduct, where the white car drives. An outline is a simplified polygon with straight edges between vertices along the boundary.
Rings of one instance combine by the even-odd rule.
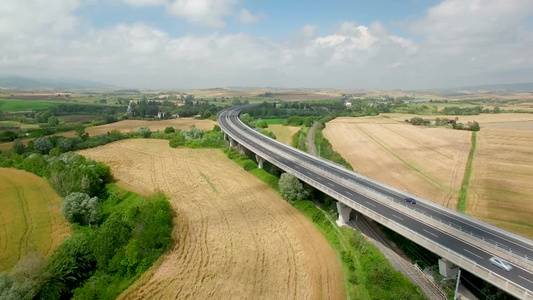
[[[232,117],[224,117],[221,114],[219,118],[219,123],[223,125],[225,131],[231,133],[234,136],[238,136],[244,143],[249,144],[251,147],[258,149],[264,154],[272,157],[279,163],[286,165],[297,172],[300,172],[304,176],[310,177],[312,180],[319,182],[326,186],[327,188],[334,190],[335,192],[343,195],[346,198],[349,198],[350,201],[354,203],[363,205],[370,210],[375,211],[376,213],[393,220],[394,222],[400,223],[403,226],[415,230],[420,235],[424,236],[426,239],[433,241],[434,243],[440,244],[445,248],[448,248],[452,251],[459,253],[460,255],[472,260],[478,265],[481,265],[500,276],[512,280],[518,285],[533,290],[533,274],[520,268],[519,266],[513,265],[513,269],[510,272],[504,271],[497,268],[489,262],[489,258],[493,255],[483,249],[471,246],[467,242],[456,238],[444,231],[440,231],[434,228],[431,225],[425,224],[415,218],[412,218],[409,215],[404,214],[401,211],[395,210],[389,206],[386,206],[382,202],[375,201],[366,196],[360,195],[357,191],[353,190],[351,187],[344,186],[335,180],[332,180],[328,177],[324,177],[314,171],[312,168],[308,168],[306,165],[302,165],[297,160],[288,159],[287,157],[280,156],[277,153],[271,151],[270,149],[263,147],[260,143],[264,143],[268,138],[261,136],[258,137],[251,129],[243,130],[243,132],[238,132],[230,124]],[[258,153],[261,155],[260,153]]]

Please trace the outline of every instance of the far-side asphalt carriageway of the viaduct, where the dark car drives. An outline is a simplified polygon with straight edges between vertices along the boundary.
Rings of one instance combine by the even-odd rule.
[[[240,109],[237,108],[233,110],[233,113],[231,114],[234,117],[238,118],[238,111]],[[232,119],[232,123],[234,126],[245,126],[244,124],[240,124],[240,121],[237,121],[237,119]],[[261,133],[253,132],[252,134],[257,135],[258,137],[261,136]],[[331,165],[327,164],[326,162],[321,161],[320,159],[316,159],[314,157],[310,157],[307,154],[304,154],[300,151],[297,151],[296,149],[286,146],[286,145],[280,145],[279,143],[276,143],[272,139],[265,139],[264,143],[267,143],[273,147],[284,147],[289,153],[296,157],[297,159],[300,159],[304,161],[305,163],[308,163],[310,165],[318,165],[321,169],[326,170],[328,173],[333,174],[334,176],[341,177],[343,179],[349,179],[359,185],[362,185],[366,188],[372,189],[382,195],[385,195],[387,197],[390,197],[392,199],[395,199],[398,202],[404,202],[404,199],[408,196],[406,194],[398,193],[392,189],[388,189],[382,185],[378,185],[374,182],[365,180],[355,174],[353,174],[349,170],[343,170],[334,168]],[[468,219],[457,217],[455,215],[450,214],[449,212],[446,212],[445,210],[439,210],[436,209],[433,206],[427,205],[421,201],[418,202],[416,206],[417,210],[423,211],[427,215],[431,215],[434,218],[441,219],[443,222],[450,223],[455,225],[454,227],[460,227],[461,230],[466,232],[471,232],[473,235],[482,237],[483,239],[487,241],[493,241],[492,243],[498,243],[499,245],[502,245],[502,249],[512,249],[514,253],[520,256],[527,256],[529,259],[533,260],[533,245],[525,243],[521,240],[515,239],[510,236],[502,235],[500,232],[494,231],[491,228],[483,228],[480,227],[478,224],[473,223],[469,221]]]

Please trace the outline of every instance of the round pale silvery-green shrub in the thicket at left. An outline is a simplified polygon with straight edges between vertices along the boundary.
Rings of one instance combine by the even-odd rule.
[[[94,224],[98,221],[98,197],[85,193],[72,193],[61,203],[61,213],[70,223],[80,225]]]

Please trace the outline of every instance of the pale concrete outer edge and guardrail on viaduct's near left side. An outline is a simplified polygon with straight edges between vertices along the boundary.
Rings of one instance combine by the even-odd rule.
[[[232,137],[233,139],[237,140],[239,143],[241,143],[242,145],[244,145],[246,148],[250,149],[251,151],[253,151],[254,153],[258,154],[258,153],[261,153],[261,156],[265,159],[267,159],[268,161],[270,161],[271,163],[273,163],[274,165],[280,167],[281,169],[284,169],[286,171],[290,171],[290,173],[293,173],[294,175],[298,175],[298,177],[300,179],[302,179],[303,181],[309,183],[309,184],[312,184],[313,186],[315,186],[317,189],[325,192],[326,194],[332,196],[332,197],[335,197],[335,198],[340,198],[340,199],[343,199],[345,200],[345,203],[348,204],[348,206],[350,206],[351,208],[353,209],[356,209],[357,211],[361,212],[361,213],[365,213],[365,215],[367,215],[368,217],[378,221],[379,223],[382,223],[384,225],[387,225],[388,227],[396,227],[395,229],[397,231],[403,231],[404,232],[404,235],[414,235],[416,238],[417,238],[417,243],[421,244],[422,246],[426,247],[427,249],[429,250],[432,250],[433,252],[435,252],[436,254],[440,255],[441,257],[444,257],[446,259],[448,259],[449,261],[453,262],[454,264],[456,265],[461,265],[461,267],[465,270],[468,270],[474,274],[477,274],[478,276],[480,276],[481,278],[485,278],[488,282],[496,285],[496,286],[499,286],[501,288],[504,288],[507,292],[509,292],[510,294],[516,296],[516,297],[519,297],[519,298],[522,298],[522,299],[527,299],[527,300],[533,300],[533,293],[517,284],[515,284],[514,282],[512,281],[509,281],[508,279],[505,279],[504,277],[488,270],[487,268],[483,267],[483,266],[480,266],[478,265],[476,262],[474,262],[473,260],[470,260],[469,258],[467,257],[464,257],[463,255],[453,251],[453,250],[450,250],[448,249],[447,247],[443,246],[443,245],[440,245],[439,243],[436,243],[435,241],[432,241],[428,238],[426,238],[425,236],[421,235],[420,233],[416,232],[416,231],[413,231],[411,229],[409,229],[408,227],[405,227],[403,226],[402,224],[394,221],[394,220],[391,220],[389,218],[386,218],[384,216],[382,216],[381,214],[373,211],[373,210],[370,210],[369,208],[361,205],[361,204],[358,204],[358,203],[355,203],[353,202],[352,200],[350,200],[349,198],[345,197],[344,195],[332,190],[331,188],[328,188],[326,187],[325,185],[319,183],[319,182],[316,182],[315,180],[313,180],[312,178],[302,174],[301,172],[277,161],[275,158],[273,157],[270,157],[269,155],[265,155],[264,153],[262,153],[261,151],[258,151],[258,149],[256,149],[255,147],[249,145],[248,143],[245,143],[243,142],[240,138],[235,138],[235,137]],[[355,207],[354,207],[355,206]],[[401,232],[399,232],[401,234]]]

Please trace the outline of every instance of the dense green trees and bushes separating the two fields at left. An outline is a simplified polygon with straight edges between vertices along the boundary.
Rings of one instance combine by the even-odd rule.
[[[114,299],[170,245],[171,210],[166,197],[143,198],[111,184],[109,167],[68,150],[122,138],[39,138],[0,154],[1,167],[14,167],[48,180],[73,234],[50,256],[31,254],[10,274],[0,274],[1,299]],[[113,135],[111,135],[113,136]],[[146,136],[140,130],[136,137]],[[55,139],[54,139],[55,138]],[[89,141],[89,143],[87,143]]]

